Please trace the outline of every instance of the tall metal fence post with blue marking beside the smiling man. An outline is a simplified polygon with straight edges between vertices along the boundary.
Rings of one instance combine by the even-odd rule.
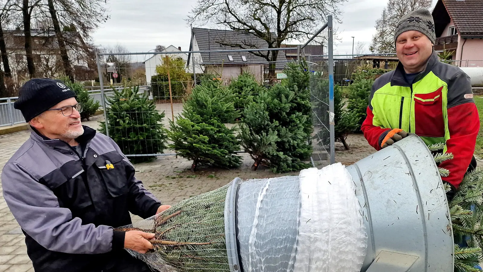
[[[335,164],[335,131],[334,131],[334,52],[332,37],[332,15],[327,17],[328,27],[328,65],[329,65],[329,122],[330,122],[330,164]]]

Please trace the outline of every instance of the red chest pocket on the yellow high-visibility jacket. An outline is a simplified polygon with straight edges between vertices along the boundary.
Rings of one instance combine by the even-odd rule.
[[[437,91],[414,94],[415,134],[444,137],[443,98],[441,86]]]

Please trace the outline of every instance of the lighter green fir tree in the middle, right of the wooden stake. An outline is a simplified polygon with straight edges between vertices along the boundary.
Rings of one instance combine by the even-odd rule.
[[[223,168],[240,166],[241,157],[235,155],[240,144],[235,128],[224,123],[240,117],[233,106],[233,94],[213,81],[205,81],[193,89],[183,105],[183,113],[170,121],[168,137],[170,149],[193,162],[191,170],[199,165]]]

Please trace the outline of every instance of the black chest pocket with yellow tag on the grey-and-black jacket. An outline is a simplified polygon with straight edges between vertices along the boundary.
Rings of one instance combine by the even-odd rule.
[[[124,157],[119,154],[100,155],[96,166],[102,176],[102,181],[110,196],[116,197],[128,193],[128,178]]]

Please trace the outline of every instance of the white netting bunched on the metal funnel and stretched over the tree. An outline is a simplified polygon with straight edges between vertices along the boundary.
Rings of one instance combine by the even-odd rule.
[[[129,253],[160,272],[228,272],[224,211],[230,184],[136,223],[156,233],[155,251]],[[360,271],[367,236],[357,203],[341,164],[302,170],[299,177],[241,181],[236,229],[242,271]]]

